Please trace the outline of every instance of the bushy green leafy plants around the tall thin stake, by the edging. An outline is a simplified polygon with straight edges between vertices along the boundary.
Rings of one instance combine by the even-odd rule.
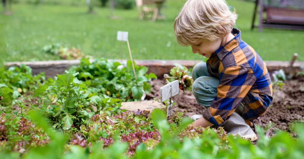
[[[126,67],[123,67],[121,63],[115,61],[94,59],[91,63],[88,58],[83,58],[79,66],[71,68],[70,71],[79,72],[75,77],[95,92],[112,98],[133,101],[140,99],[143,92],[149,94],[151,85],[148,81],[157,78],[154,73],[146,74],[148,67],[137,66],[135,62],[133,63],[136,79],[130,60],[127,61]]]

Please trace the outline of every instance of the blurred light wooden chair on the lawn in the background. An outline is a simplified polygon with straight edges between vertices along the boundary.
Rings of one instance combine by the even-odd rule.
[[[154,0],[136,0],[136,7],[140,13],[140,19],[156,20],[158,8],[155,6]]]

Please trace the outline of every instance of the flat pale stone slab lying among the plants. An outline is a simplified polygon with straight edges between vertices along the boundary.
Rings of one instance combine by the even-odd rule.
[[[140,101],[140,102],[122,102],[120,109],[127,109],[130,111],[137,112],[138,109],[140,110],[148,110],[152,111],[155,108],[161,108],[160,105],[164,106],[164,103],[150,100],[150,101]]]

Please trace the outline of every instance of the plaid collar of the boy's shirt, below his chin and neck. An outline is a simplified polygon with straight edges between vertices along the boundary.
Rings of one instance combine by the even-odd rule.
[[[216,54],[217,57],[219,57],[219,60],[223,60],[223,58],[227,54],[229,54],[231,50],[233,50],[239,45],[239,42],[241,40],[241,31],[239,29],[233,28],[232,34],[237,34],[237,36],[235,36],[233,39],[225,43],[225,45],[221,46],[219,49],[217,49],[212,53],[212,55]]]

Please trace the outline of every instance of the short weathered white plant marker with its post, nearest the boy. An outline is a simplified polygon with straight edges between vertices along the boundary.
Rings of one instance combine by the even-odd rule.
[[[179,92],[178,88],[179,82],[175,80],[167,85],[161,87],[161,102],[170,98],[170,104],[167,107],[167,117],[173,113],[173,100],[172,96],[177,95]]]

